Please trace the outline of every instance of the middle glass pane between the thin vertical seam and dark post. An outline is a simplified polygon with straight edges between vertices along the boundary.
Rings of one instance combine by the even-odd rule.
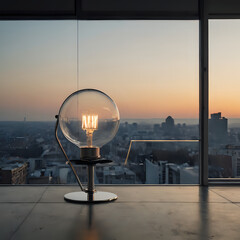
[[[136,142],[124,165],[131,140],[199,139],[198,21],[80,21],[78,25],[79,87],[107,93],[121,116],[117,136],[101,149],[113,164],[99,166],[97,181],[198,183],[198,143],[168,143],[166,150],[164,144]],[[180,149],[185,157],[179,162]],[[197,160],[190,161],[191,157]],[[171,164],[172,169],[193,167],[197,175],[187,182],[181,177],[146,181],[148,161],[154,162],[155,170],[165,161],[163,165]]]

